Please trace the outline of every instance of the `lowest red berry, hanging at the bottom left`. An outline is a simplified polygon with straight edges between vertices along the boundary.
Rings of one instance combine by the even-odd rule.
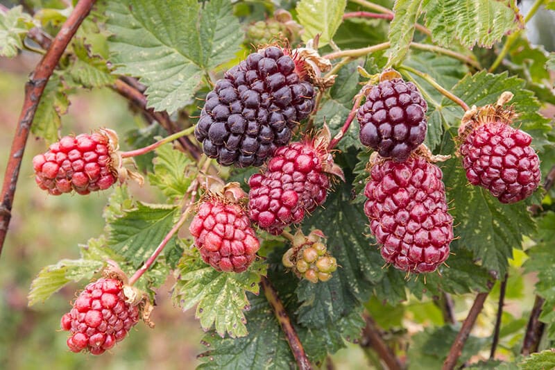
[[[101,278],[79,294],[61,326],[71,333],[67,339],[71,351],[100,355],[125,338],[138,321],[139,307],[126,303],[121,281]]]

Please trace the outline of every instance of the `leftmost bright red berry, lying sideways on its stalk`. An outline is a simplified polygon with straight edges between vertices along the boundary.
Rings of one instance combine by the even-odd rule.
[[[35,181],[52,195],[108,189],[117,179],[110,154],[108,136],[103,133],[62,137],[33,158]]]

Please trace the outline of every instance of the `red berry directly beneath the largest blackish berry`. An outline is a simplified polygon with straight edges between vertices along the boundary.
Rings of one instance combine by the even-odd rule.
[[[320,153],[310,142],[293,142],[277,151],[262,174],[248,180],[250,219],[268,233],[279,235],[298,224],[305,212],[324,203],[330,180]]]

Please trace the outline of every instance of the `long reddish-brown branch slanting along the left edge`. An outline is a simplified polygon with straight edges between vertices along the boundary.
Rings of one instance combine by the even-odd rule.
[[[35,71],[31,74],[29,81],[25,85],[22,112],[21,115],[19,115],[17,129],[12,140],[12,148],[10,150],[10,157],[8,159],[8,165],[6,166],[6,173],[4,174],[2,186],[2,200],[0,204],[0,253],[4,241],[6,240],[6,233],[8,233],[19,169],[22,164],[27,138],[31,130],[31,124],[33,123],[40,97],[56,65],[58,65],[58,60],[60,60],[60,57],[67,48],[67,44],[69,44],[71,38],[75,35],[83,19],[89,14],[94,2],[94,0],[81,0],[76,4],[74,10],[62,25],[62,28],[60,28],[60,32],[58,32],[58,35],[56,35],[51,42],[48,51],[46,51],[46,54],[44,54],[42,60],[40,60]]]

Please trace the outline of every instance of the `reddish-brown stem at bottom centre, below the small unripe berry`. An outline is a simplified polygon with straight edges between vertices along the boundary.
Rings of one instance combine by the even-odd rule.
[[[270,280],[264,276],[262,276],[262,279],[260,280],[260,285],[262,286],[262,290],[264,290],[264,295],[273,308],[275,318],[278,319],[280,326],[285,333],[287,343],[289,343],[289,347],[291,348],[291,352],[293,353],[293,357],[295,358],[299,369],[312,369],[312,365],[310,364],[307,354],[305,353],[305,348],[302,348],[302,343],[300,342],[295,328],[291,325],[291,320],[289,319],[289,315],[287,314],[287,311],[278,296],[278,292],[275,291],[275,288],[270,283]]]

